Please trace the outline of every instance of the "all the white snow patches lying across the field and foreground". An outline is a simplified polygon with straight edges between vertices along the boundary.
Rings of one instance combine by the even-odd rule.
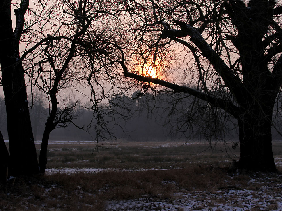
[[[7,142],[8,140],[5,140]],[[36,144],[41,142],[36,141]],[[50,144],[85,144],[86,141],[51,141]],[[142,145],[142,144],[141,144]],[[179,145],[179,144],[169,144]],[[165,147],[166,144],[160,144],[157,147]],[[118,145],[116,146],[118,147]],[[155,147],[155,146],[154,146]],[[277,166],[282,166],[282,158],[274,158]],[[143,171],[145,169],[139,169]],[[56,168],[46,169],[46,174],[53,173],[97,173],[101,171],[138,171],[135,169],[97,169],[97,168]],[[133,200],[108,201],[106,204],[106,211],[190,211],[190,210],[275,210],[282,211],[282,193],[278,190],[282,189],[281,183],[267,183],[264,184],[262,180],[251,179],[248,182],[250,189],[243,189],[240,187],[223,187],[216,191],[186,191],[179,190],[170,199],[163,200],[160,198],[151,198],[144,196],[143,198]],[[267,177],[265,178],[268,179]],[[165,181],[164,181],[165,182]]]

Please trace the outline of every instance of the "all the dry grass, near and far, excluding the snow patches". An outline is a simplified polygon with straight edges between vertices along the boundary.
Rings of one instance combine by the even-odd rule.
[[[193,210],[212,208],[217,204],[241,206],[237,193],[224,195],[230,189],[254,191],[253,198],[257,200],[264,200],[262,194],[281,198],[281,186],[274,185],[281,183],[281,175],[249,173],[230,177],[227,174],[229,162],[224,162],[230,158],[224,152],[217,154],[211,154],[209,150],[202,152],[207,147],[204,144],[187,146],[178,143],[176,146],[158,147],[163,144],[166,143],[149,142],[145,145],[139,142],[139,146],[122,143],[117,147],[109,145],[108,147],[114,148],[101,149],[94,155],[91,155],[92,149],[85,144],[51,145],[47,168],[172,169],[17,177],[8,181],[8,194],[0,193],[0,210],[95,211],[105,210],[110,201],[144,198],[153,202],[172,203],[181,200],[183,194],[197,197],[198,202],[193,206]],[[281,148],[281,144],[276,144],[275,156],[279,155],[277,153]],[[252,182],[254,180],[255,182]],[[218,192],[224,197],[218,197],[216,195]],[[243,197],[249,196],[249,192],[243,193]],[[250,210],[261,208],[256,206]],[[275,210],[277,207],[275,201],[269,200],[264,209]],[[128,208],[134,209],[148,210],[149,207]],[[217,209],[222,210],[220,207]],[[156,207],[153,210],[160,208]],[[184,209],[178,207],[177,210]]]

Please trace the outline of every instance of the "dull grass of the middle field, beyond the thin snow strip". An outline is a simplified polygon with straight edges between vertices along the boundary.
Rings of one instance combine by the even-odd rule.
[[[111,142],[93,152],[94,144],[71,143],[48,146],[47,168],[184,168],[190,162],[229,162],[239,152],[228,156],[220,144],[211,149],[206,143],[184,142]]]

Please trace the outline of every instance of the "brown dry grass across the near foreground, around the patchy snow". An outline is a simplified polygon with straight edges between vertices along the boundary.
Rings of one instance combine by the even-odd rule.
[[[249,182],[254,178],[258,180],[250,188]],[[262,182],[264,186],[271,187],[273,183],[281,182],[281,176],[254,174],[230,177],[225,167],[211,169],[210,165],[190,164],[185,169],[172,170],[110,171],[72,175],[57,173],[34,178],[17,177],[9,181],[8,194],[0,194],[0,210],[95,211],[105,210],[109,201],[147,198],[152,202],[173,203],[181,199],[183,194],[197,197],[198,203],[193,206],[193,210],[201,210],[217,204],[232,203],[233,206],[241,206],[236,202],[238,195],[224,195],[229,189],[257,190],[258,195],[253,194],[253,198],[258,200],[262,198],[261,194],[281,194],[281,187],[260,193],[262,189],[256,184]],[[216,197],[214,194],[218,194],[218,191],[221,191],[224,197]],[[249,196],[249,192],[241,195],[242,198]],[[137,207],[135,209],[142,210]],[[274,209],[277,209],[277,203],[268,200],[267,210]]]

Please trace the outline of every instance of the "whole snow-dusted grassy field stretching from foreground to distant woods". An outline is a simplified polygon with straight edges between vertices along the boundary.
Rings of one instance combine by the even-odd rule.
[[[50,142],[45,175],[10,179],[0,210],[282,210],[282,175],[227,173],[239,154],[231,144],[109,142],[94,148]],[[273,143],[273,152],[281,171],[282,142]]]

